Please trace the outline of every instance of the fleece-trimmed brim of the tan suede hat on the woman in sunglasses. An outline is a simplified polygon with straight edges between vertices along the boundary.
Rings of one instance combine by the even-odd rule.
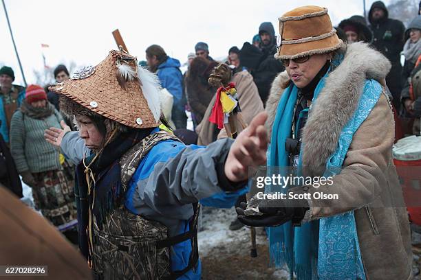
[[[326,54],[343,47],[344,43],[336,34],[333,36],[306,43],[281,45],[281,49],[275,54],[278,59],[294,59],[313,54]]]

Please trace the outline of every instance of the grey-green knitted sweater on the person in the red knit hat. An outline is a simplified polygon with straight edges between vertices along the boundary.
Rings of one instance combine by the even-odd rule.
[[[50,106],[52,104],[48,103]],[[59,152],[45,141],[44,130],[52,126],[61,128],[61,114],[54,113],[45,119],[34,119],[17,110],[10,128],[10,150],[19,174],[61,169]]]

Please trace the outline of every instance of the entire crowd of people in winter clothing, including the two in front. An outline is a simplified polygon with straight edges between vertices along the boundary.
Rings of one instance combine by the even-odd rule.
[[[58,65],[54,85],[13,84],[3,66],[0,183],[17,198],[28,185],[96,279],[200,279],[198,203],[235,206],[233,231],[266,226],[271,262],[296,279],[411,279],[391,149],[420,135],[420,13],[421,2],[405,27],[376,1],[368,21],[333,27],[327,9],[296,8],[279,18],[278,37],[263,22],[223,61],[197,43],[185,73],[160,45],[146,61],[110,51],[72,78]],[[210,121],[226,85],[209,80],[222,64],[248,125],[236,139]],[[334,175],[333,187],[286,189],[341,199],[247,202],[249,168],[259,165]],[[391,200],[400,207],[374,206]]]

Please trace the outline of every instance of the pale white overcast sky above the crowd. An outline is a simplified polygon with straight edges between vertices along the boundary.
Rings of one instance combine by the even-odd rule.
[[[386,4],[390,0],[385,0]],[[374,0],[367,0],[367,11]],[[108,51],[116,49],[111,32],[119,29],[129,52],[144,60],[144,50],[152,44],[164,47],[169,56],[185,62],[195,43],[208,43],[210,56],[226,56],[233,45],[241,48],[257,34],[261,22],[277,19],[301,5],[320,5],[329,10],[332,22],[363,14],[363,0],[5,0],[14,39],[28,83],[35,82],[33,70],[55,67],[70,61],[76,65],[96,65]],[[0,8],[0,64],[14,69],[16,84],[23,84],[17,58]],[[278,32],[277,32],[278,33]],[[41,43],[50,45],[41,49]]]

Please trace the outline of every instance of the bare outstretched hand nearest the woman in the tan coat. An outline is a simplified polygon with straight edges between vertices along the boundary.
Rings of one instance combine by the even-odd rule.
[[[260,113],[254,117],[250,126],[235,139],[225,162],[225,175],[233,182],[241,182],[248,178],[248,168],[257,168],[266,164],[268,149],[268,132],[264,127],[268,114]]]

